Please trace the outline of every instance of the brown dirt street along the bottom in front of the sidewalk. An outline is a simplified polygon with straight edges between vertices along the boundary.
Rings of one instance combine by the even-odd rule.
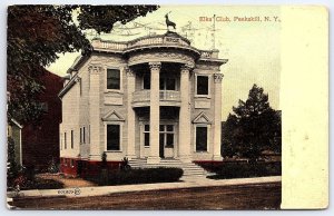
[[[281,183],[118,193],[96,197],[18,198],[21,209],[279,209]]]

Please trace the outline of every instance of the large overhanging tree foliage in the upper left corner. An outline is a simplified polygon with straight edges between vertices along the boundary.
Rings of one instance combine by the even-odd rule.
[[[8,119],[36,121],[42,114],[38,96],[45,89],[39,77],[59,53],[89,55],[85,30],[110,32],[118,21],[126,23],[157,10],[158,6],[10,6],[8,8],[7,90]],[[78,20],[73,19],[78,12]]]

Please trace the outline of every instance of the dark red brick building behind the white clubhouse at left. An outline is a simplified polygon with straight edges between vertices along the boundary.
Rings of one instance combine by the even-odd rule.
[[[45,92],[39,100],[46,114],[38,125],[24,125],[22,129],[22,164],[46,170],[52,160],[59,163],[59,124],[61,122],[61,101],[58,92],[62,89],[62,78],[45,71],[41,77]]]

